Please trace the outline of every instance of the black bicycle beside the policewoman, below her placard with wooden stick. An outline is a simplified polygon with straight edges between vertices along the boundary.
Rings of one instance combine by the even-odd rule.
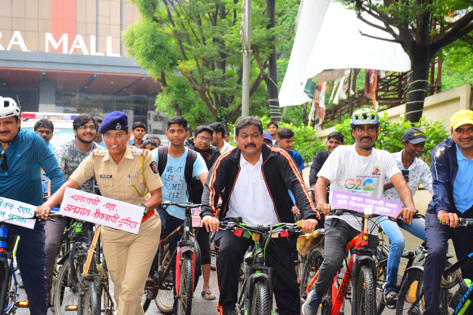
[[[88,229],[88,237],[82,236],[83,228]],[[58,263],[62,267],[53,294],[56,315],[113,314],[105,259],[100,261],[100,226],[94,237],[93,228],[93,223],[75,220],[69,229],[70,250]]]

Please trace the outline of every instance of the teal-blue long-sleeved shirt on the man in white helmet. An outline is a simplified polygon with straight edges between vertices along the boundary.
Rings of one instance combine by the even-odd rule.
[[[36,132],[20,130],[5,154],[8,172],[0,171],[0,198],[42,205],[41,167],[51,179],[52,194],[64,184],[64,174],[53,152]]]

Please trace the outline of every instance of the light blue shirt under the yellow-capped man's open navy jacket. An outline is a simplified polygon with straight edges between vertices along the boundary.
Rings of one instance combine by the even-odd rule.
[[[453,200],[456,210],[464,213],[473,205],[473,159],[468,161],[462,152],[456,147],[456,160],[458,162],[458,171],[456,172],[455,182],[453,182]]]

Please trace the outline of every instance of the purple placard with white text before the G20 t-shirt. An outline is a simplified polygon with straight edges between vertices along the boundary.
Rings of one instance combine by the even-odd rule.
[[[403,208],[399,202],[364,197],[354,193],[333,192],[332,206],[335,208],[395,217]]]

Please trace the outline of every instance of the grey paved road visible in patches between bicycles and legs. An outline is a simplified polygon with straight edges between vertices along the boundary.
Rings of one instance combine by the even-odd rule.
[[[403,231],[403,233],[404,232],[405,231]],[[406,238],[406,248],[405,248],[406,250],[412,251],[420,244],[420,240],[417,239],[415,236],[412,236],[409,233],[404,233],[404,236]],[[451,254],[455,255],[455,250],[453,248],[451,241],[449,243],[450,243],[449,251]],[[455,258],[451,260],[452,263],[454,263],[455,261],[456,261]],[[405,263],[405,261],[402,260],[400,269],[399,269],[399,273],[401,275],[405,268],[405,265],[403,263]],[[111,289],[113,291],[113,287]],[[219,297],[219,290],[217,288],[217,280],[216,280],[215,271],[210,271],[210,290],[217,298]],[[202,279],[199,281],[199,284],[197,285],[197,290],[194,294],[192,314],[193,315],[217,315],[218,314],[217,300],[210,300],[210,301],[204,300],[200,295],[201,291],[202,291]],[[20,293],[20,300],[26,300],[25,291],[23,289],[19,289],[19,293]],[[273,303],[273,305],[275,305],[275,303]],[[394,315],[394,313],[395,313],[394,310],[389,310],[389,309],[386,309],[383,312],[383,314],[385,315]],[[29,310],[19,308],[17,310],[17,314],[26,315],[26,314],[29,314]],[[53,310],[49,309],[48,315],[53,315],[53,314],[54,314]],[[157,315],[157,314],[161,314],[161,313],[159,312],[156,305],[154,303],[151,303],[148,311],[146,312],[146,315]],[[347,305],[345,306],[345,314],[350,314],[350,303],[347,303]]]

